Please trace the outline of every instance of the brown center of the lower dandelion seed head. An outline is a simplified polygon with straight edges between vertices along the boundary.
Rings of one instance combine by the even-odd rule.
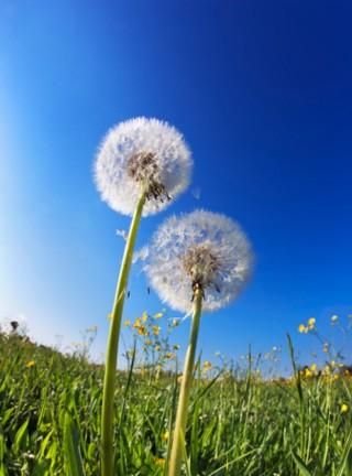
[[[217,286],[216,277],[221,268],[219,257],[207,244],[189,247],[183,258],[183,266],[190,277],[193,289],[200,288],[205,291],[208,286]]]

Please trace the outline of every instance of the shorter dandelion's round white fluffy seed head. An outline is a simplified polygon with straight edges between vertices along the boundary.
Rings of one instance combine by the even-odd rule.
[[[195,288],[204,294],[204,311],[229,304],[249,281],[251,245],[232,219],[196,210],[168,218],[155,232],[146,274],[161,299],[189,312]]]

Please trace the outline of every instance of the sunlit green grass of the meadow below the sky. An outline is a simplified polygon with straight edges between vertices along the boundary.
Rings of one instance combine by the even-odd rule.
[[[352,475],[350,378],[212,372],[196,370],[185,475]],[[0,334],[0,476],[99,475],[102,378],[85,358]],[[165,474],[178,388],[157,365],[118,374],[119,475]]]

